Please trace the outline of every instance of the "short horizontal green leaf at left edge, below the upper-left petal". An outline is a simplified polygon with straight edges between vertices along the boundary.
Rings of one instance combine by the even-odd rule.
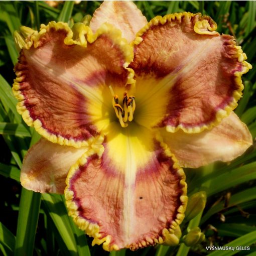
[[[0,122],[0,134],[31,137],[29,130],[22,123]]]

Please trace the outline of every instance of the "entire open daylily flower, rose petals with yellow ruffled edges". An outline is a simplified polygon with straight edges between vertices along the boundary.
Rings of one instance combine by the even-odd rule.
[[[231,161],[252,141],[232,112],[251,66],[216,27],[191,13],[148,23],[132,2],[111,1],[89,27],[22,27],[13,90],[43,137],[22,185],[65,189],[69,214],[106,250],[177,243],[181,167]]]

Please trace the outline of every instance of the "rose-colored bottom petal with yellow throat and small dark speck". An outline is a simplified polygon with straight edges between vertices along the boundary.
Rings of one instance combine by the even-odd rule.
[[[184,217],[183,170],[147,129],[111,125],[100,153],[88,152],[68,174],[69,214],[106,250],[162,243]]]

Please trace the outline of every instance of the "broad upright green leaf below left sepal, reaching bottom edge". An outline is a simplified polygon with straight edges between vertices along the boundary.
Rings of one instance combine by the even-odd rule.
[[[33,255],[40,204],[40,193],[22,188],[15,256]]]

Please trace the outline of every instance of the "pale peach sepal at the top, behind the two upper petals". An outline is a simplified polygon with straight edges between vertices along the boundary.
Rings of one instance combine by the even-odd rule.
[[[90,28],[96,32],[105,22],[119,29],[122,37],[129,42],[134,40],[136,33],[148,23],[132,1],[104,1],[93,14]]]

